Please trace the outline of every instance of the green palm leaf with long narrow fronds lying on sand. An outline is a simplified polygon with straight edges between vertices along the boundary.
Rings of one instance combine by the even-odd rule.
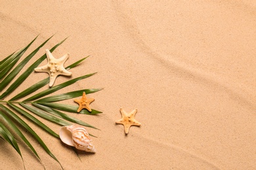
[[[35,37],[35,39],[36,38],[37,37]],[[20,149],[18,148],[18,143],[16,142],[16,139],[14,139],[14,137],[13,137],[14,135],[12,135],[11,131],[9,131],[9,129],[8,129],[8,128],[11,128],[12,131],[14,131],[14,133],[16,133],[16,135],[18,135],[18,137],[20,137],[20,139],[22,141],[24,141],[24,143],[32,150],[33,154],[35,154],[35,156],[41,161],[41,159],[39,158],[39,155],[35,151],[35,148],[33,148],[32,144],[28,141],[28,139],[26,139],[26,137],[23,135],[22,131],[20,131],[20,129],[18,128],[18,127],[22,126],[22,127],[24,127],[24,129],[27,129],[28,132],[32,134],[33,138],[35,140],[37,140],[37,142],[40,144],[41,147],[43,147],[43,149],[47,152],[47,154],[49,154],[49,156],[51,156],[52,158],[54,158],[54,160],[56,160],[58,163],[60,163],[55,158],[53,153],[51,153],[51,151],[45,145],[45,143],[43,143],[43,141],[37,135],[37,133],[35,133],[35,131],[33,131],[33,129],[28,124],[26,124],[26,122],[24,122],[24,120],[22,120],[18,116],[18,114],[20,114],[21,116],[24,116],[26,119],[30,120],[30,123],[33,123],[33,124],[41,127],[41,129],[43,129],[44,131],[46,131],[47,133],[49,133],[50,135],[53,135],[54,137],[56,137],[58,139],[59,139],[58,134],[55,133],[53,131],[53,129],[51,129],[48,126],[46,126],[45,124],[43,124],[43,122],[41,122],[37,118],[35,118],[35,116],[33,116],[33,114],[40,116],[41,118],[44,118],[46,121],[53,122],[54,124],[58,124],[59,126],[69,126],[72,123],[75,123],[75,124],[80,124],[82,126],[87,126],[87,127],[97,129],[96,127],[91,126],[81,120],[78,120],[77,118],[75,118],[73,116],[69,116],[68,114],[60,112],[60,110],[64,110],[67,112],[77,113],[77,108],[78,108],[77,106],[64,105],[64,104],[59,104],[59,103],[49,103],[49,102],[56,102],[56,101],[62,101],[62,100],[66,100],[66,99],[72,99],[74,97],[81,96],[81,93],[83,93],[83,92],[95,93],[102,89],[101,88],[83,89],[83,90],[76,90],[74,92],[59,93],[57,95],[45,97],[45,95],[50,95],[53,92],[60,91],[62,88],[71,86],[78,80],[83,80],[84,78],[93,76],[93,75],[95,75],[95,73],[79,76],[72,80],[68,80],[62,84],[53,86],[52,88],[48,88],[47,90],[41,90],[41,88],[43,88],[43,86],[45,86],[49,83],[49,78],[45,78],[45,79],[40,80],[39,82],[33,84],[26,90],[18,93],[17,95],[14,95],[14,97],[12,97],[9,101],[4,100],[5,97],[7,97],[7,95],[11,95],[11,93],[14,90],[16,90],[20,86],[20,84],[22,84],[22,82],[24,82],[26,80],[26,78],[28,78],[28,76],[30,76],[33,73],[33,70],[36,67],[38,67],[38,65],[40,65],[43,60],[46,59],[46,55],[44,54],[43,56],[38,58],[34,63],[32,63],[32,65],[28,66],[27,69],[25,71],[23,71],[22,75],[20,75],[16,78],[18,73],[20,71],[22,71],[22,69],[24,69],[24,67],[26,66],[28,61],[30,61],[30,59],[32,59],[35,56],[35,54],[39,51],[39,49],[42,48],[51,39],[51,37],[49,39],[47,39],[45,42],[43,42],[40,46],[35,48],[35,50],[33,50],[32,53],[30,53],[28,56],[26,56],[26,58],[24,58],[22,61],[20,61],[20,63],[18,63],[18,60],[22,57],[22,55],[26,52],[26,50],[28,50],[28,48],[35,41],[35,39],[33,39],[33,41],[30,42],[30,44],[28,44],[21,50],[18,50],[18,52],[14,52],[13,54],[9,55],[7,58],[2,59],[0,61],[0,80],[1,80],[0,92],[3,91],[5,89],[5,87],[9,86],[9,88],[7,88],[7,90],[5,90],[5,92],[1,93],[1,95],[0,95],[0,117],[2,118],[1,120],[5,121],[8,124],[8,127],[7,127],[7,126],[4,126],[4,124],[2,122],[0,122],[0,137],[2,139],[4,139],[5,141],[7,141],[9,144],[11,144],[12,147],[18,152],[18,154],[20,154],[20,156],[22,156]],[[64,39],[63,41],[56,44],[53,48],[51,48],[50,51],[53,52],[65,40],[66,39]],[[88,58],[88,57],[89,56],[87,56],[86,58]],[[68,67],[66,67],[66,69],[68,70],[68,69],[72,69],[72,68],[76,67],[77,65],[79,65],[79,63],[81,63],[86,58],[79,59],[72,65],[69,65]],[[16,67],[14,67],[14,65],[16,65]],[[16,80],[14,80],[14,79],[16,79]],[[14,82],[12,82],[12,80],[14,80]],[[27,97],[28,95],[30,95],[33,92],[36,92],[37,90],[40,90],[41,92],[33,94],[32,97],[28,97],[24,101],[17,101],[18,99]],[[41,98],[41,97],[44,97],[44,98]],[[37,100],[37,101],[35,101],[35,100]],[[17,104],[19,104],[20,107],[18,107]],[[5,107],[5,105],[9,105],[9,107],[11,107],[12,110]],[[82,114],[98,114],[101,112],[98,110],[92,109],[92,112],[89,112],[87,110],[82,110],[80,113],[82,113]],[[17,124],[20,124],[20,126],[17,126]],[[60,166],[62,167],[62,165],[60,165]]]

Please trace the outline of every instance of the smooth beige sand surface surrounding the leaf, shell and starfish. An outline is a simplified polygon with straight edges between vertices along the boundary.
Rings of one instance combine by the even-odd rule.
[[[256,169],[256,1],[0,1],[1,59],[38,34],[26,54],[55,35],[30,64],[66,37],[56,58],[91,55],[72,77],[98,73],[62,92],[104,88],[89,95],[103,114],[70,113],[101,129],[88,129],[96,154],[80,161],[32,124],[64,169]],[[16,92],[47,76],[33,73]],[[137,108],[142,124],[127,136],[115,124],[120,107]],[[27,136],[46,169],[60,169]],[[19,144],[26,168],[43,169]],[[9,144],[0,150],[0,169],[23,169]]]

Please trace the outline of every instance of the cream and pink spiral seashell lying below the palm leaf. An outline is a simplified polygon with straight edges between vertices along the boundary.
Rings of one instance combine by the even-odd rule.
[[[85,127],[79,125],[63,126],[60,129],[60,139],[63,143],[75,146],[78,150],[96,152],[95,146]]]

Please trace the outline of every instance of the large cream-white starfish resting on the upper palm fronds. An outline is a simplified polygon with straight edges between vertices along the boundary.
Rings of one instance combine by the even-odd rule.
[[[47,65],[43,65],[42,67],[35,68],[36,72],[46,72],[50,75],[50,83],[49,86],[53,86],[54,81],[56,80],[58,75],[71,76],[72,73],[67,71],[63,64],[66,62],[70,54],[65,54],[62,58],[54,58],[53,54],[47,49],[45,50],[47,56]]]

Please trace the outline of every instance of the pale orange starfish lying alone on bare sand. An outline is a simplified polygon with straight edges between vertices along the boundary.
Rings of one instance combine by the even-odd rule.
[[[131,126],[140,126],[140,122],[138,122],[137,120],[135,120],[135,114],[137,113],[137,109],[134,109],[133,111],[131,111],[129,114],[127,114],[127,112],[125,112],[125,110],[123,110],[122,108],[120,109],[122,118],[120,120],[116,121],[116,124],[123,124],[123,126],[125,127],[125,134],[129,133],[129,129]]]

